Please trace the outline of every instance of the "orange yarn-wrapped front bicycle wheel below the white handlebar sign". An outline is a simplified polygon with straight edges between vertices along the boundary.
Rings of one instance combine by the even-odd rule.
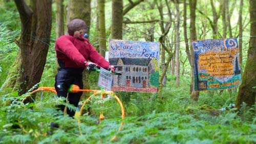
[[[83,114],[84,109],[88,108],[90,108],[90,114]],[[113,91],[96,90],[87,100],[82,102],[79,116],[78,123],[87,123],[88,125],[98,124],[103,119],[119,119],[121,124],[118,130],[121,131],[124,125],[125,112],[122,102]],[[91,119],[92,121],[92,118],[95,118],[95,120],[90,123],[88,120]]]

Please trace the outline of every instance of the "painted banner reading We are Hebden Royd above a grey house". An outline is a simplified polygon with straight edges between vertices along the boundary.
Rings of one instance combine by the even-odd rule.
[[[159,43],[110,40],[109,62],[116,71],[112,90],[158,92]]]

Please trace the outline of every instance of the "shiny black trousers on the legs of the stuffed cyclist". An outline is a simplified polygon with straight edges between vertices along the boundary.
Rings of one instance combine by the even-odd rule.
[[[68,89],[70,85],[78,85],[80,89],[83,88],[82,83],[82,68],[60,68],[58,74],[55,77],[55,89],[57,91],[58,97],[68,97],[68,101],[70,104],[74,105],[75,107],[78,106],[79,100],[81,98],[82,92],[77,93],[68,93]],[[65,106],[59,105],[62,111],[64,111]],[[73,117],[75,115],[75,111],[67,109],[67,113],[69,116]]]

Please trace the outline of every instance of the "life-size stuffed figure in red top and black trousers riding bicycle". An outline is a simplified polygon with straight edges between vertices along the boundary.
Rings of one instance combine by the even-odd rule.
[[[102,67],[115,72],[115,67],[110,65],[90,44],[83,35],[87,31],[86,22],[75,18],[68,25],[69,35],[63,35],[56,40],[55,51],[60,68],[55,77],[55,89],[58,97],[67,97],[70,85],[78,85],[83,88],[82,71],[87,66]],[[82,92],[69,93],[69,103],[78,106]],[[62,111],[64,105],[58,106]],[[75,111],[67,109],[69,116],[73,117]]]

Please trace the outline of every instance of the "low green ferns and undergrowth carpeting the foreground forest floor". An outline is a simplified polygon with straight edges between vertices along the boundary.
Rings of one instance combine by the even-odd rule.
[[[193,102],[188,85],[186,78],[181,79],[180,87],[175,86],[175,81],[168,81],[163,98],[158,98],[157,93],[117,92],[125,108],[123,121],[115,99],[92,99],[86,107],[91,113],[84,113],[80,124],[56,110],[55,105],[63,104],[63,100],[55,94],[37,92],[33,97],[36,103],[24,104],[20,100],[26,94],[18,100],[17,92],[9,93],[0,99],[0,143],[256,142],[255,107],[243,104],[240,113],[235,108],[220,110],[235,99],[228,91],[201,92],[199,101]],[[105,120],[98,124],[99,110],[104,111]],[[50,129],[51,122],[59,124],[59,128]],[[121,122],[124,126],[118,131]]]

